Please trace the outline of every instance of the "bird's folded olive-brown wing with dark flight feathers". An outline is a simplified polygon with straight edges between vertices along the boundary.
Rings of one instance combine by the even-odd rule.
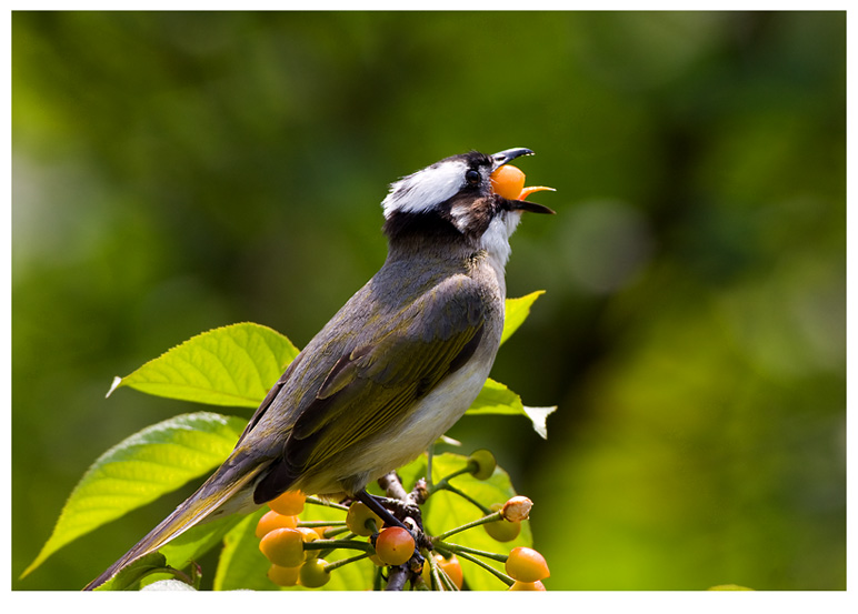
[[[465,275],[449,278],[340,355],[291,427],[282,457],[260,481],[257,502],[403,415],[463,365],[483,333],[487,298]]]

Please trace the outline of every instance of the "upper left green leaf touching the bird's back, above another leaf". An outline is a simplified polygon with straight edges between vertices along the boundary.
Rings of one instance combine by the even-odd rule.
[[[117,378],[119,386],[148,394],[239,407],[257,407],[298,349],[277,331],[243,322],[193,336]]]

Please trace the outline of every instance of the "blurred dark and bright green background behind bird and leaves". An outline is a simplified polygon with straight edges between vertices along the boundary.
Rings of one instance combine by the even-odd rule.
[[[536,502],[547,586],[846,587],[845,12],[12,27],[14,588],[81,587],[181,499],[17,580],[90,462],[201,409],[114,375],[239,321],[306,344],[383,261],[388,183],[510,147],[558,215],[513,236],[510,296],[547,293],[493,376],[559,410],[450,435]]]

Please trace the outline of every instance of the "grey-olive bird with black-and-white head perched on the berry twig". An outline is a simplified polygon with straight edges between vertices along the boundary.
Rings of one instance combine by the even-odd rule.
[[[509,238],[522,212],[553,211],[501,195],[492,174],[532,153],[469,151],[391,183],[381,269],[288,365],[223,464],[84,590],[201,522],[287,491],[387,513],[366,485],[450,429],[495,362]]]

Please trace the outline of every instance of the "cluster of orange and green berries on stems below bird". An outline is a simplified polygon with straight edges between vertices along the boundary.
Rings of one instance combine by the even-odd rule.
[[[496,575],[510,591],[545,591],[542,580],[548,577],[549,571],[546,560],[537,551],[520,546],[512,548],[509,554],[499,554],[448,541],[451,535],[479,525],[498,542],[510,542],[519,535],[521,522],[528,519],[532,506],[529,499],[513,496],[505,503],[486,507],[449,483],[450,479],[465,473],[478,480],[488,480],[495,467],[491,453],[480,450],[468,459],[465,469],[433,486],[428,487],[423,481],[418,483],[415,489],[419,493],[416,497],[418,503],[422,503],[433,492],[447,490],[461,494],[483,512],[483,516],[477,521],[437,536],[423,533],[419,512],[407,515],[401,526],[388,526],[360,501],[353,501],[348,506],[335,505],[346,511],[345,521],[305,522],[298,517],[305,503],[322,502],[308,499],[300,492],[283,493],[268,503],[271,510],[259,520],[256,530],[260,540],[259,550],[271,563],[268,577],[278,586],[300,584],[311,588],[320,587],[330,581],[331,573],[338,567],[369,558],[378,567],[377,587],[380,587],[385,577],[390,587],[395,575],[398,575],[398,586],[410,580],[412,588],[458,591],[465,586],[459,563],[461,557]],[[326,561],[333,551],[349,548],[359,554],[335,562]],[[481,558],[503,563],[506,574]]]

